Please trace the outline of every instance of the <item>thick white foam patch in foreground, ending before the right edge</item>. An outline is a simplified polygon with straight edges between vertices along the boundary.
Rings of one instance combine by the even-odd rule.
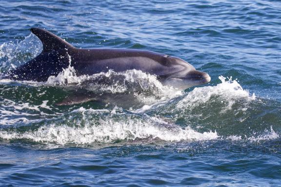
[[[83,115],[81,120],[68,121],[63,124],[41,126],[35,131],[3,131],[3,139],[29,139],[45,144],[93,144],[114,143],[116,141],[133,141],[138,139],[161,139],[164,141],[193,141],[218,138],[216,132],[197,132],[190,128],[182,129],[169,125],[155,117],[128,115],[120,108],[109,110],[76,110]],[[92,116],[98,118],[92,118]],[[67,125],[68,124],[68,125]],[[72,124],[70,126],[69,124]]]

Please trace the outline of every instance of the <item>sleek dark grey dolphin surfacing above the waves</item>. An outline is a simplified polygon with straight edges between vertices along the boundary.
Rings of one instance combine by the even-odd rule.
[[[31,28],[43,44],[39,56],[8,72],[13,80],[46,81],[71,66],[79,75],[93,75],[113,70],[141,70],[156,75],[163,85],[181,90],[208,83],[208,74],[195,70],[186,61],[160,53],[136,49],[78,49],[60,37],[40,28]]]

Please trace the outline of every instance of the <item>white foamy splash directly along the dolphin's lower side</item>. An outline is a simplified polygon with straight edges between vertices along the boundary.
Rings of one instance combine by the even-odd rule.
[[[106,73],[77,76],[75,69],[71,66],[70,56],[68,68],[63,69],[57,76],[50,76],[46,85],[82,86],[95,93],[133,93],[139,101],[147,105],[182,94],[180,90],[163,86],[155,75],[149,75],[140,70],[125,72],[109,70]]]

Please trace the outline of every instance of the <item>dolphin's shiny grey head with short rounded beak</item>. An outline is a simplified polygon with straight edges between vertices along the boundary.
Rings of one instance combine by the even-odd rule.
[[[197,71],[191,64],[181,58],[166,56],[166,65],[169,66],[171,71],[162,78],[162,83],[165,86],[185,90],[192,86],[206,84],[211,80],[207,73]]]

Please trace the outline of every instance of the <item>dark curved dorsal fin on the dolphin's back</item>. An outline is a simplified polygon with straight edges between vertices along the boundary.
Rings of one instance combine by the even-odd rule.
[[[41,40],[43,44],[43,52],[56,51],[60,49],[68,50],[69,48],[74,48],[65,40],[49,31],[46,31],[45,29],[31,28],[30,30]]]

